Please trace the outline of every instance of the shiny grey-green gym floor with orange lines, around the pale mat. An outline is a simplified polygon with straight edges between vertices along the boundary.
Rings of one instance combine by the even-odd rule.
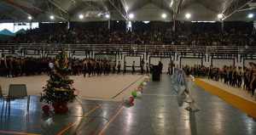
[[[10,115],[3,115],[0,134],[29,132],[33,134],[168,134],[168,135],[253,135],[256,120],[241,110],[195,87],[200,111],[184,110],[182,96],[172,88],[171,78],[163,75],[160,82],[148,82],[143,97],[133,106],[119,102],[78,99],[69,104],[65,115],[43,114],[39,97],[32,97],[28,119],[26,100],[11,102]],[[2,102],[0,103],[2,110]]]

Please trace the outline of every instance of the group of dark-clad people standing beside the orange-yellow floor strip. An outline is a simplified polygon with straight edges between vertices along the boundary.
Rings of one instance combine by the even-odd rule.
[[[182,65],[182,69],[185,71],[186,75],[193,76],[206,76],[208,79],[215,81],[221,81],[224,79],[225,84],[229,84],[232,87],[240,87],[243,82],[243,89],[247,90],[248,93],[252,93],[254,96],[256,88],[256,64],[249,63],[250,68],[244,67],[244,70],[241,70],[241,66],[238,66],[238,69],[234,65],[226,66],[220,70],[219,68],[201,66],[201,65]]]

